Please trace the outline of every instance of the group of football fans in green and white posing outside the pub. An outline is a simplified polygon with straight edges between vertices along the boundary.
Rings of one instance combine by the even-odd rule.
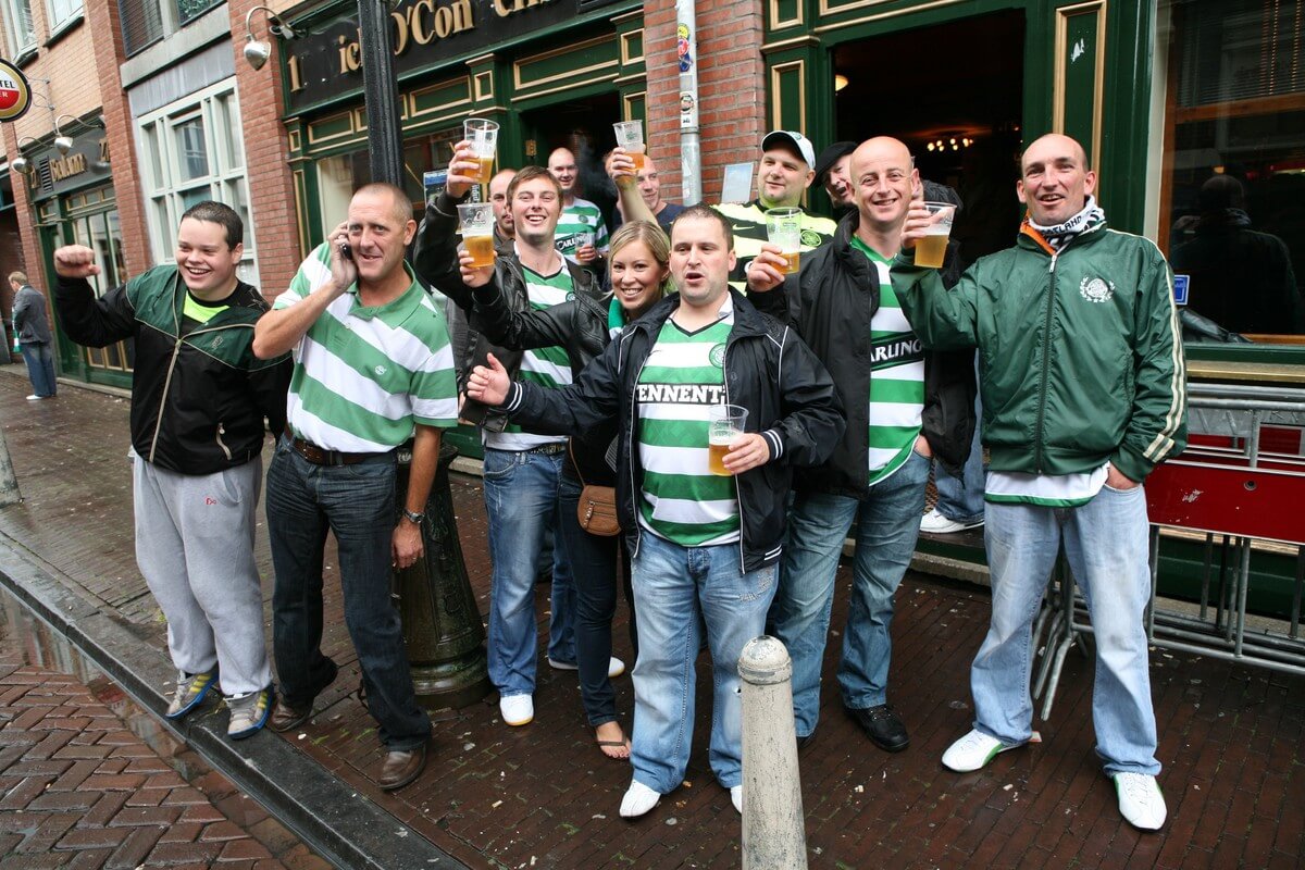
[[[579,196],[573,153],[557,149],[547,167],[505,168],[488,183],[491,266],[459,244],[457,205],[479,162],[468,142],[454,147],[420,226],[402,189],[363,187],[270,310],[236,277],[240,219],[215,202],[183,217],[176,265],[102,297],[86,280],[98,271],[91,250],[55,253],[69,337],[137,340],[137,557],[179,672],[168,716],[217,685],[232,738],[312,715],[337,676],[321,652],[330,531],[386,750],[377,783],[395,789],[420,775],[431,723],[390,577],[423,554],[440,433],[461,419],[483,433],[488,664],[502,721],[534,719],[534,599],[551,547],[545,659],[578,672],[599,749],[629,759],[620,814],[647,814],[684,781],[703,647],[709,759],[741,811],[739,655],[761,634],[786,643],[806,746],[848,536],[842,703],[880,749],[910,746],[890,703],[893,599],[921,530],[930,462],[971,480],[981,432],[985,503],[966,523],[985,520],[992,625],[971,672],[972,730],[942,763],[974,771],[1028,742],[1031,625],[1064,544],[1096,629],[1098,753],[1122,815],[1163,824],[1142,481],[1185,443],[1182,347],[1163,256],[1107,227],[1078,142],[1048,134],[1027,147],[1014,247],[964,271],[955,245],[942,269],[915,265],[933,220],[923,202],[959,197],[921,180],[889,137],[835,143],[817,160],[804,136],[775,130],[761,142],[757,200],[715,207],[663,202],[651,157],[637,168],[615,149],[606,167],[621,223],[609,237]],[[803,211],[801,266],[788,273],[765,211],[800,207],[817,168],[844,214]],[[419,277],[448,299],[448,314]],[[707,447],[723,404],[746,411],[724,475]],[[277,440],[266,509],[279,699],[253,565],[265,430]],[[394,449],[410,438],[399,503]],[[616,535],[589,526],[604,488]],[[612,656],[622,587],[636,652],[630,730],[612,686],[624,670]]]

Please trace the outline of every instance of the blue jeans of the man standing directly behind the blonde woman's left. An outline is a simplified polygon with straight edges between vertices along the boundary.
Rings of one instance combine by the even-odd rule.
[[[489,680],[501,695],[535,693],[539,633],[535,577],[544,530],[556,528],[561,453],[493,450],[484,453],[489,558]],[[552,616],[548,656],[576,661],[570,560],[561,535],[553,539]]]

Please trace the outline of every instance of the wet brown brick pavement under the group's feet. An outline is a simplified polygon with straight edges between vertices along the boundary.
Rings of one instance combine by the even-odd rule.
[[[132,557],[128,404],[68,385],[55,400],[27,403],[21,367],[16,374],[0,372],[0,420],[25,501],[0,509],[0,544],[8,548],[0,569],[12,578],[10,563],[21,560],[55,578],[138,638],[140,655],[154,663],[151,673],[164,673],[164,626]],[[454,475],[452,489],[467,573],[484,614],[489,566],[479,481]],[[262,530],[257,553],[270,600]],[[633,824],[617,815],[629,766],[594,746],[574,672],[547,664],[531,725],[500,723],[495,695],[463,710],[435,711],[435,755],[427,771],[397,794],[380,792],[371,781],[380,760],[375,723],[356,697],[338,577],[330,557],[328,563],[324,651],[342,665],[341,676],[318,698],[308,727],[247,742],[257,745],[253,751],[288,750],[342,784],[345,794],[393,814],[393,828],[376,832],[373,852],[424,837],[471,867],[740,866],[740,819],[706,759],[705,663],[698,668],[689,783]],[[834,626],[846,618],[847,583],[844,567]],[[536,607],[542,637],[545,592],[540,587]],[[920,574],[903,582],[890,699],[912,743],[895,755],[874,749],[843,713],[835,680],[842,638],[831,637],[821,725],[800,755],[812,867],[1295,867],[1305,861],[1298,809],[1305,798],[1305,680],[1298,677],[1152,653],[1165,764],[1160,783],[1169,803],[1169,823],[1159,833],[1134,831],[1116,811],[1113,789],[1092,753],[1091,664],[1077,652],[1066,661],[1052,720],[1035,725],[1040,743],[976,773],[944,770],[942,750],[970,725],[968,663],[987,618],[988,593],[980,587]],[[626,633],[622,608],[613,635],[616,655],[629,663]],[[163,682],[154,683],[159,698],[167,691]],[[629,677],[616,687],[617,710],[629,727]],[[410,865],[378,860],[377,866]]]

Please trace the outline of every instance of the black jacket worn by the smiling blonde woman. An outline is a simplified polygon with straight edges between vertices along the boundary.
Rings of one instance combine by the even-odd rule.
[[[504,288],[499,278],[496,274],[495,280],[474,291],[476,326],[495,344],[515,351],[564,347],[574,381],[611,343],[607,307],[596,299],[581,293],[561,305],[540,309],[526,307],[525,310],[515,310],[508,300],[525,296],[526,288]],[[615,436],[615,420],[577,434],[568,467],[570,470],[578,467],[579,477],[586,484],[616,485],[616,475],[607,464],[607,449]]]

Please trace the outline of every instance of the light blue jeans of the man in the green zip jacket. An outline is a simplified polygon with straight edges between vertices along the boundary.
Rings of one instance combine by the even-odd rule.
[[[1096,753],[1108,773],[1159,773],[1142,627],[1151,597],[1142,487],[1103,487],[1092,501],[1070,509],[989,503],[985,519],[992,625],[970,673],[975,728],[1007,745],[1032,736],[1032,622],[1064,540],[1096,642]]]

